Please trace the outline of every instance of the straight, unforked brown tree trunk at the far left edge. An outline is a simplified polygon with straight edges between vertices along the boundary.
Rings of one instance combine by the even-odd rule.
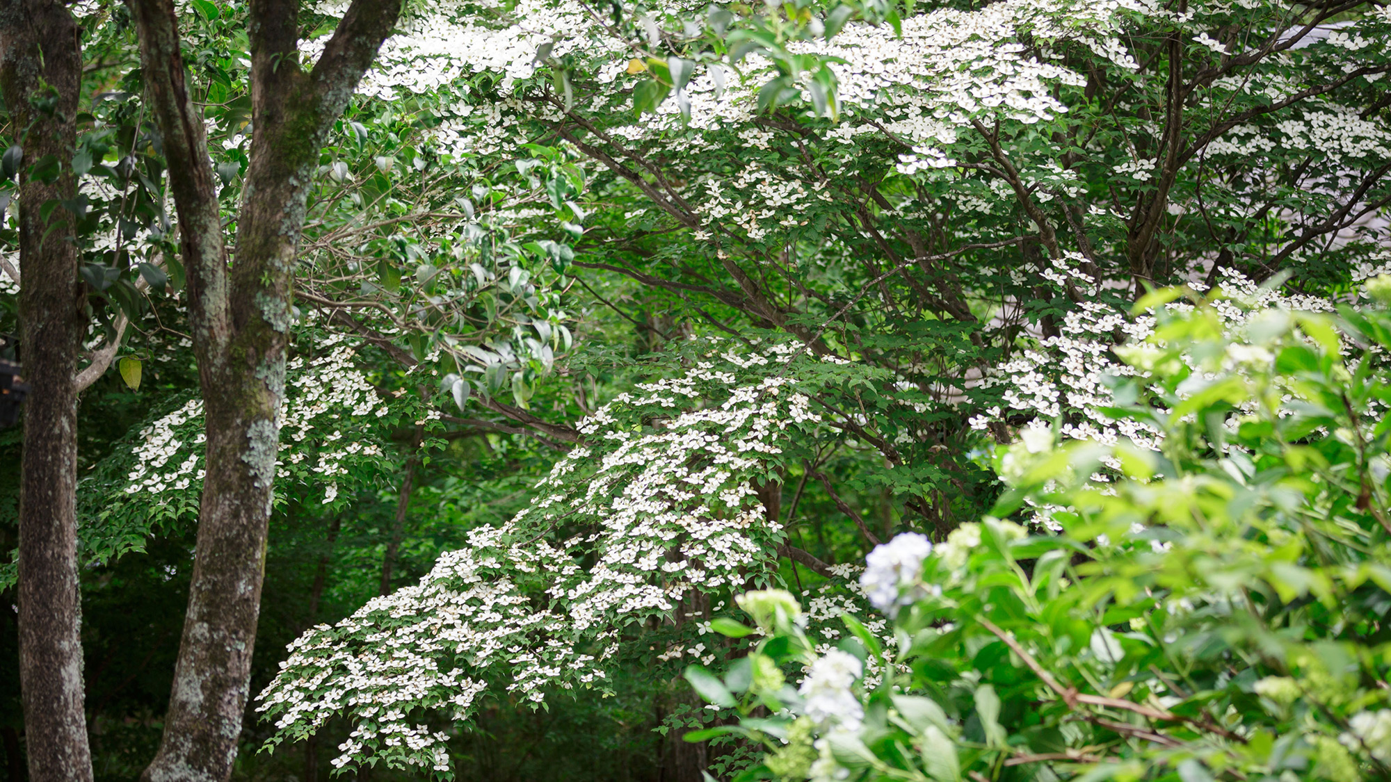
[[[18,593],[19,683],[33,782],[92,779],[82,711],[74,381],[86,323],[85,288],[72,216],[51,205],[77,195],[72,154],[81,78],[81,38],[63,3],[0,1],[0,89],[24,149],[19,327],[31,391],[19,479]]]

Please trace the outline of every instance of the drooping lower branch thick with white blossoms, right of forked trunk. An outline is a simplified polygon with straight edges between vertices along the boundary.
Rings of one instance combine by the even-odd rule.
[[[552,687],[604,687],[620,628],[766,573],[783,534],[754,481],[819,417],[790,377],[769,376],[798,345],[716,351],[580,422],[587,441],[508,523],[470,532],[470,547],[419,584],[295,641],[260,708],[292,735],[344,714],[377,736],[412,710],[466,718],[484,680],[533,703]],[[702,625],[690,626],[694,639]],[[662,657],[712,654],[693,640]],[[373,751],[424,764],[434,750],[373,740],[344,757]]]

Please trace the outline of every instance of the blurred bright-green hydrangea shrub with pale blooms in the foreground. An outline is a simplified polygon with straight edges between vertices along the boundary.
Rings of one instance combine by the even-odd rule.
[[[1239,302],[1155,310],[1110,383],[1157,449],[1056,431],[999,449],[993,515],[871,554],[890,643],[847,616],[854,637],[817,653],[790,605],[723,679],[689,672],[744,717],[687,739],[762,742],[741,779],[1387,778],[1391,277],[1367,289],[1235,338]],[[1059,532],[1011,522],[1025,498]],[[789,665],[800,687],[741,672]]]

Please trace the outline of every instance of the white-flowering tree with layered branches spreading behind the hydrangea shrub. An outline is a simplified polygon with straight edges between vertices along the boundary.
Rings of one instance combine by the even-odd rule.
[[[309,32],[278,56],[321,57],[349,8],[305,8]],[[193,3],[182,17],[211,139],[202,170],[225,205],[203,192],[207,225],[262,192],[246,167],[266,138],[248,129],[248,79],[264,65],[236,38],[250,13]],[[524,429],[573,472],[419,587],[306,635],[263,705],[294,737],[353,718],[342,764],[442,765],[441,721],[467,715],[484,682],[530,701],[602,686],[620,664],[675,671],[726,654],[705,622],[746,582],[810,569],[826,589],[819,616],[858,605],[826,564],[833,550],[896,526],[940,543],[975,520],[997,493],[976,454],[1011,427],[1061,416],[1061,437],[1157,447],[1160,429],[1113,416],[1100,384],[1129,366],[1113,352],[1125,333],[1152,327],[1123,317],[1145,285],[1327,309],[1385,263],[1391,65],[1372,42],[1387,25],[1370,4],[1256,1],[409,8],[302,160],[287,321],[320,310],[313,330],[408,369],[399,390],[441,422],[421,424],[421,442],[445,426]],[[129,124],[146,138],[139,115]],[[111,156],[147,163],[136,147]],[[171,287],[196,288],[189,253],[170,252],[186,232],[168,227],[142,225],[142,252]],[[129,267],[115,246],[107,266]],[[1283,273],[1283,294],[1259,285]],[[288,277],[274,280],[280,295]],[[1239,331],[1245,316],[1228,314]],[[605,388],[595,376],[627,360],[613,358],[615,316],[662,356]],[[709,348],[715,334],[726,342]],[[302,349],[299,377],[313,377],[323,353]],[[626,387],[632,376],[647,387]],[[385,420],[373,401],[344,430],[364,448],[430,420],[380,401]],[[266,420],[281,409],[299,413],[267,404]],[[156,529],[149,508],[204,491],[199,465],[214,459],[177,434],[195,419],[163,413],[103,473],[103,497],[118,498],[106,519],[132,522],[132,541]],[[284,420],[319,413],[305,415]],[[338,452],[320,440],[335,429],[262,455],[328,498],[335,480],[302,465]],[[753,449],[730,452],[730,437]],[[134,452],[171,461],[140,472]],[[341,463],[363,481],[409,484],[402,462],[392,479],[360,455]],[[669,491],[702,470],[715,472],[698,491]],[[839,543],[801,537],[822,516],[842,522]],[[444,626],[477,654],[437,640]]]

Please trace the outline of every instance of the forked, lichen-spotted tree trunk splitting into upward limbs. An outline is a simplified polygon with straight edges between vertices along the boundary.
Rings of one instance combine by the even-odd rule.
[[[143,778],[225,781],[249,694],[280,441],[275,413],[312,173],[334,120],[395,26],[401,0],[353,0],[309,72],[299,64],[298,0],[252,0],[255,135],[231,267],[174,3],[129,1],[178,207],[207,440],[174,687],[160,750]]]

